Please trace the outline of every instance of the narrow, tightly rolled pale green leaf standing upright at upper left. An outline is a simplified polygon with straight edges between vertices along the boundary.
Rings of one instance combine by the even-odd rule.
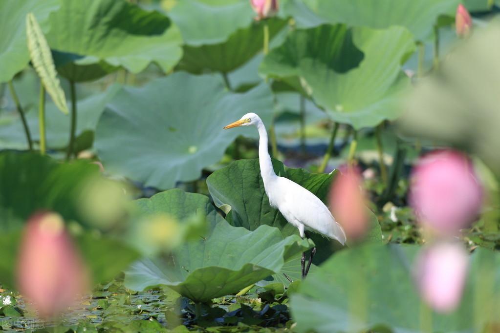
[[[29,56],[43,87],[62,113],[67,114],[66,96],[62,90],[47,40],[33,13],[26,15],[26,36]]]

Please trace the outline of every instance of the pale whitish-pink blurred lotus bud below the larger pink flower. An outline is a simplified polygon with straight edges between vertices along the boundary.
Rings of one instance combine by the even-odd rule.
[[[415,278],[422,299],[436,312],[448,313],[460,303],[468,255],[460,244],[438,243],[416,260]]]

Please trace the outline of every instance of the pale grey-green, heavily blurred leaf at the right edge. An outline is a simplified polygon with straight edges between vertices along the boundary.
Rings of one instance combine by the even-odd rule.
[[[500,175],[500,25],[493,22],[456,45],[440,70],[409,95],[400,125],[408,134],[458,145]]]

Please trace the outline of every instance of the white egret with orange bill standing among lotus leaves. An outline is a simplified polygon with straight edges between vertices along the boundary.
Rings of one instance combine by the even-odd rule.
[[[267,132],[258,115],[252,112],[247,113],[241,119],[225,126],[224,129],[249,125],[256,126],[258,130],[260,175],[271,207],[277,208],[286,221],[298,229],[301,238],[304,238],[304,230],[310,230],[335,239],[343,245],[345,243],[345,233],[321,200],[297,183],[279,177],[274,172],[271,157],[267,150]],[[315,253],[316,248],[314,247],[307,268],[305,268],[305,252],[302,253],[302,279],[307,276]]]

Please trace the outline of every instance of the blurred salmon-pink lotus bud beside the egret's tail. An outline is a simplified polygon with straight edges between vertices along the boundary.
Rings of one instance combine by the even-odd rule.
[[[330,210],[347,239],[355,240],[364,235],[368,221],[362,178],[357,168],[341,169],[330,190]]]

